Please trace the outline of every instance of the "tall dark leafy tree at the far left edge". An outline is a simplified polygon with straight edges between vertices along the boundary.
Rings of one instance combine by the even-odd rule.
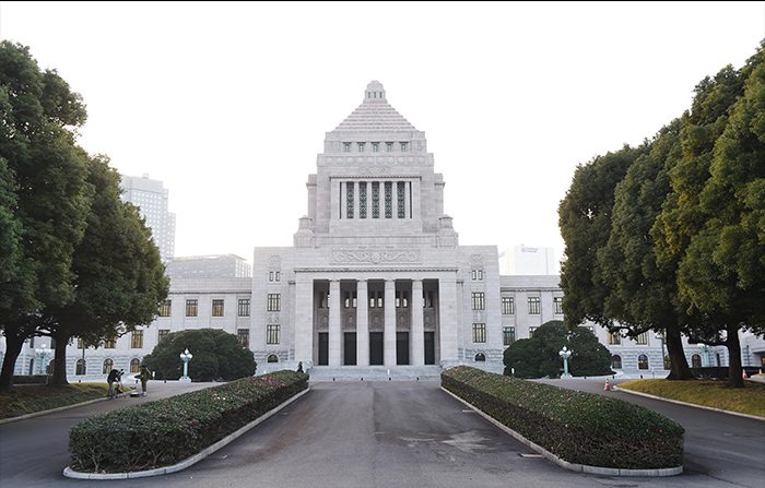
[[[71,261],[89,197],[87,157],[74,143],[74,130],[86,111],[56,71],[40,71],[28,48],[7,40],[0,41],[0,225],[9,246],[0,254],[11,265],[0,281],[7,345],[0,391],[8,391],[21,347],[39,325],[38,310],[73,298]]]

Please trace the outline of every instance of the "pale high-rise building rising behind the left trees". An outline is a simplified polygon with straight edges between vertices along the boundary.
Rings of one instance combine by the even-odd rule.
[[[150,179],[145,174],[142,177],[122,175],[120,188],[122,200],[140,209],[160,248],[162,262],[167,262],[175,254],[175,214],[167,211],[168,190],[162,181]]]

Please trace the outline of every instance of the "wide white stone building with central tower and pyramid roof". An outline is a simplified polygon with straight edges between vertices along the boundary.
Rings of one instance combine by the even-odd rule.
[[[95,349],[70,346],[70,381],[103,379],[111,366],[137,372],[164,335],[202,328],[237,335],[258,372],[297,361],[311,374],[458,364],[502,371],[509,344],[563,320],[560,277],[501,275],[495,246],[459,246],[444,188],[424,132],[372,82],[361,106],[326,134],[293,247],[256,248],[251,278],[234,269],[174,276],[152,324]],[[582,326],[609,347],[616,371],[666,376],[654,333],[631,340]],[[765,364],[765,341],[741,337],[743,364]],[[24,347],[17,373],[42,368],[42,342]],[[693,366],[728,364],[723,347],[686,343],[685,354]]]

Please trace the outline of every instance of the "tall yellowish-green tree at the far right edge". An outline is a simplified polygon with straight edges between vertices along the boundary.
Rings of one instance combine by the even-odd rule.
[[[765,41],[741,70],[743,96],[715,140],[698,197],[704,216],[680,261],[680,297],[709,320],[692,333],[729,352],[730,386],[743,386],[739,330],[765,333]]]

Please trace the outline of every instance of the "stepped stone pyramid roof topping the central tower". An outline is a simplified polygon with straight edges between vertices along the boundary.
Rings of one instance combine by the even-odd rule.
[[[399,132],[416,129],[388,104],[382,84],[375,80],[366,85],[362,105],[340,122],[334,131]]]

